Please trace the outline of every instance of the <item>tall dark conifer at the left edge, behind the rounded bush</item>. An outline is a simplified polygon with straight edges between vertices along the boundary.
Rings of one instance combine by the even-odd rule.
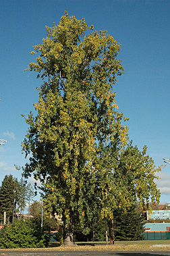
[[[6,175],[0,187],[0,220],[3,221],[3,213],[6,211],[7,221],[13,221],[13,213],[16,207],[16,188],[18,180],[11,174]]]

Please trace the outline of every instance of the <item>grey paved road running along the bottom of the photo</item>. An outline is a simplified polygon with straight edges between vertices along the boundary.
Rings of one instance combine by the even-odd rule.
[[[1,251],[0,255],[15,256],[165,256],[170,255],[170,251]]]

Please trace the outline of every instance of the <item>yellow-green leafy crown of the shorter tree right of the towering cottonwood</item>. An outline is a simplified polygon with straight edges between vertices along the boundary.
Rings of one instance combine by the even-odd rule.
[[[130,142],[119,154],[113,174],[117,185],[121,186],[119,208],[127,209],[135,205],[137,200],[141,209],[148,205],[149,199],[152,203],[159,202],[160,190],[157,189],[155,179],[161,167],[155,168],[154,161],[146,154],[146,150],[146,146],[140,151]]]

